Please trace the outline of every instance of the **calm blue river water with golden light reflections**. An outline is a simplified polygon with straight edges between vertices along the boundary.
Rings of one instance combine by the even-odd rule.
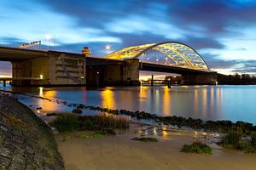
[[[256,124],[256,86],[164,86],[117,88],[0,88],[37,94],[70,103],[147,111],[159,116],[184,116],[202,120],[238,120]],[[73,108],[42,99],[19,96],[22,103],[44,111]],[[85,110],[84,112],[87,112]],[[89,111],[88,111],[89,112]]]

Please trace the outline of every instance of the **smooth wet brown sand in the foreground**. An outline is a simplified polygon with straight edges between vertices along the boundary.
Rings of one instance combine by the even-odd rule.
[[[71,139],[63,142],[63,136]],[[182,153],[179,150],[183,144],[193,141],[188,134],[157,137],[157,143],[131,140],[138,136],[135,131],[130,131],[102,139],[81,139],[75,133],[61,133],[55,134],[55,140],[67,170],[254,170],[256,167],[256,155],[225,150],[216,144],[211,144],[212,155]]]

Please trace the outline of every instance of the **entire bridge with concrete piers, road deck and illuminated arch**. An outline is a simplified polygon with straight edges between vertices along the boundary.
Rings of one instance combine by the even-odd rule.
[[[123,48],[103,58],[0,47],[0,60],[12,63],[14,86],[139,85],[139,71],[180,74],[185,84],[217,81],[201,56],[179,42]]]

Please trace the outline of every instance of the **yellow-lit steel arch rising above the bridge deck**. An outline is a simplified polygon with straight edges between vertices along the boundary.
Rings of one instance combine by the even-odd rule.
[[[195,49],[181,42],[160,42],[122,48],[106,55],[107,59],[140,59],[145,63],[170,65],[196,71],[209,67]]]

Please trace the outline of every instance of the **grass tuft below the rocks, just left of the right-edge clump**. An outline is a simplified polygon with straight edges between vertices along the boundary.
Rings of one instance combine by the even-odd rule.
[[[219,144],[237,146],[241,140],[240,132],[230,132],[221,138]]]

